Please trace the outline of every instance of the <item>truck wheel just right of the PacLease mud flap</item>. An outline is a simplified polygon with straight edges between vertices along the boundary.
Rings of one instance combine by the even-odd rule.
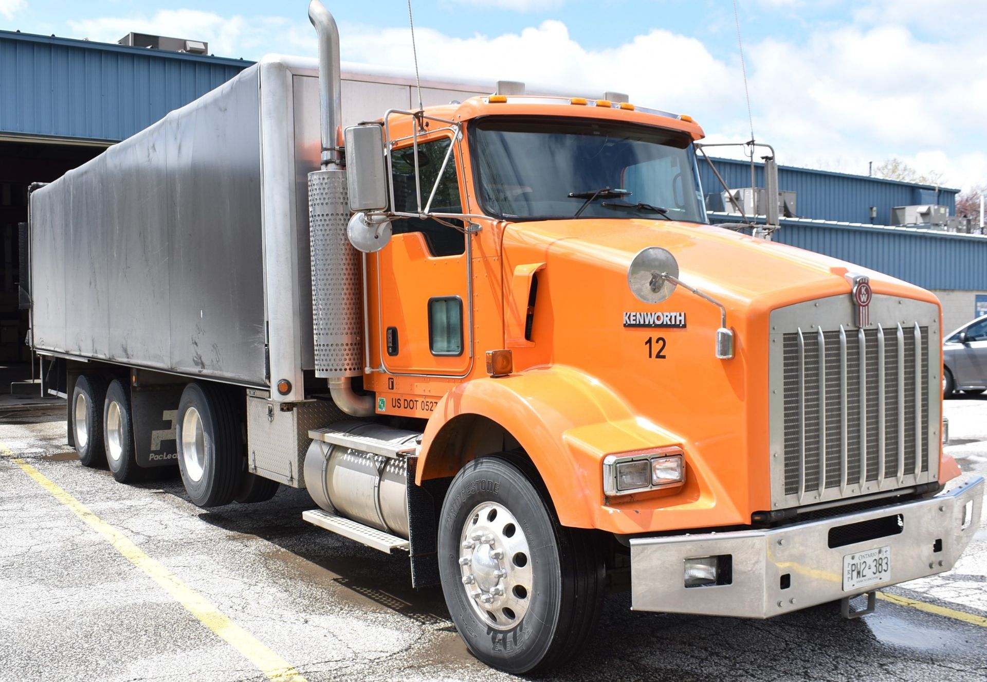
[[[220,506],[233,500],[243,472],[243,443],[233,396],[226,387],[193,382],[179,402],[179,470],[191,501]]]

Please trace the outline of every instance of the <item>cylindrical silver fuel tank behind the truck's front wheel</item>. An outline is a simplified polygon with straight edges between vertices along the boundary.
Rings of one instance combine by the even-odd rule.
[[[365,421],[334,428],[353,436],[414,447],[421,435]],[[305,484],[321,508],[408,538],[407,463],[363,450],[313,440],[305,455]]]

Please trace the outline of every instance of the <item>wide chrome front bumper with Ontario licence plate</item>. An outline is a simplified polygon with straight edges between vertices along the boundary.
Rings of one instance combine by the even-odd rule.
[[[984,480],[976,477],[929,499],[784,528],[634,538],[631,607],[637,611],[771,618],[942,573],[952,568],[977,531],[983,493]],[[829,547],[830,529],[894,514],[901,514],[903,519],[900,533]],[[891,548],[890,579],[844,591],[843,557],[885,546]],[[730,584],[685,586],[686,559],[721,555],[731,557]],[[785,575],[790,584],[783,589]]]

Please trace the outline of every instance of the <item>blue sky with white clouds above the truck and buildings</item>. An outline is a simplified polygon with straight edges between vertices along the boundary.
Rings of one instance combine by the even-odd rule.
[[[407,0],[324,0],[343,62],[413,72]],[[715,142],[868,173],[899,158],[987,184],[987,0],[413,0],[422,77],[628,93]],[[315,55],[307,0],[0,0],[0,29],[115,42],[207,40],[222,56]],[[345,66],[345,64],[344,64]]]

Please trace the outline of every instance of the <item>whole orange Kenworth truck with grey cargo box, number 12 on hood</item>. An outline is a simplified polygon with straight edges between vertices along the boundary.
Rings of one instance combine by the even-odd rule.
[[[30,341],[83,465],[177,463],[201,506],[305,488],[510,672],[576,652],[613,586],[851,617],[953,566],[984,486],[946,488],[933,294],[711,226],[687,115],[343,102],[309,14],[318,62],[266,57],[32,191]]]

